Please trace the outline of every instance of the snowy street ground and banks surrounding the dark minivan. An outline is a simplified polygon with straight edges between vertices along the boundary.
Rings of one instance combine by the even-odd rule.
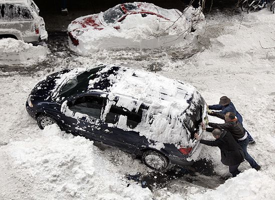
[[[206,16],[198,43],[186,48],[102,50],[79,56],[66,42],[51,42],[51,53],[35,64],[2,65],[0,72],[0,199],[274,199],[275,191],[275,15],[267,9]],[[59,41],[59,36],[55,41]],[[61,37],[63,38],[63,37]],[[33,62],[32,62],[33,63]],[[219,150],[204,146],[200,157],[213,162],[211,175],[154,173],[139,159],[116,148],[92,145],[55,125],[40,130],[25,101],[34,85],[51,72],[113,63],[156,71],[194,85],[208,104],[222,95],[234,102],[256,144],[248,152],[262,166],[225,182],[229,175]],[[216,120],[211,118],[212,121]],[[208,136],[211,138],[211,135]],[[141,172],[156,179],[151,190],[125,175]],[[146,179],[146,178],[145,178]],[[130,183],[130,185],[129,185]],[[127,186],[129,185],[129,186]]]

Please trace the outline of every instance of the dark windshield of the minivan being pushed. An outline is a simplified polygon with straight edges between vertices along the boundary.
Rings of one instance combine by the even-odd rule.
[[[96,77],[96,73],[100,69],[102,69],[102,67],[96,67],[70,79],[61,87],[59,91],[59,98],[66,98],[74,94],[86,91],[88,89],[89,81]]]

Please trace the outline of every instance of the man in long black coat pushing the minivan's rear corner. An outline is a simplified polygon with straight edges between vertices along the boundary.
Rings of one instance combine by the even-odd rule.
[[[218,128],[212,131],[213,136],[216,138],[214,141],[200,139],[200,143],[217,146],[220,149],[221,162],[229,166],[229,172],[235,177],[240,173],[238,170],[239,164],[243,161],[244,153],[240,145],[235,141],[232,134],[226,130]],[[195,133],[195,138],[198,140],[199,136]]]

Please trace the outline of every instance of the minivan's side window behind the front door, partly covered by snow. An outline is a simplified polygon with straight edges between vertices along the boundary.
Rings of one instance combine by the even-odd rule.
[[[127,126],[130,128],[135,128],[137,124],[141,122],[142,109],[139,109],[138,112],[135,112],[135,110],[129,111],[124,107],[117,107],[112,105],[110,111],[105,117],[105,122],[116,124],[120,115],[127,116]]]

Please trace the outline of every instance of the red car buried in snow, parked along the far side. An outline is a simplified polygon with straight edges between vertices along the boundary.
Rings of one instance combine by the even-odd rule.
[[[186,44],[184,37],[197,21],[200,9],[188,7],[184,14],[152,3],[118,4],[104,12],[81,16],[68,26],[73,50],[86,54],[100,48],[155,48]]]

